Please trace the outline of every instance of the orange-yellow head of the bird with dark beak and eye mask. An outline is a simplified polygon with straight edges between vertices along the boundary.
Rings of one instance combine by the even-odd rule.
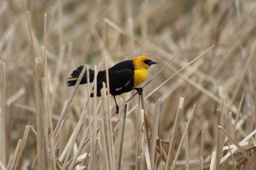
[[[144,69],[148,70],[150,65],[157,64],[157,62],[154,62],[145,56],[136,57],[132,60],[132,62],[135,70],[144,70]]]

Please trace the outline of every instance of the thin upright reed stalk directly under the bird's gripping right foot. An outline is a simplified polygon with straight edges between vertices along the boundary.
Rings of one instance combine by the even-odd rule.
[[[138,96],[138,112],[137,112],[137,134],[136,134],[136,155],[135,155],[135,170],[139,167],[139,156],[141,152],[141,145],[140,145],[140,101],[141,101],[141,95]],[[151,153],[151,152],[150,152]]]

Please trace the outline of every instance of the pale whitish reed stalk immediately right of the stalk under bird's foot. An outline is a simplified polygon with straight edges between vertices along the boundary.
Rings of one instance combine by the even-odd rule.
[[[145,169],[145,123],[144,123],[144,110],[140,111],[140,169]]]

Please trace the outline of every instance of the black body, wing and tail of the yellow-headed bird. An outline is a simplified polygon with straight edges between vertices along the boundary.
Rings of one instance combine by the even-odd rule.
[[[71,74],[71,78],[75,79],[67,82],[68,86],[75,86],[77,78],[83,70],[83,66],[79,66],[77,70],[74,70]],[[108,69],[109,72],[109,87],[110,94],[113,96],[121,95],[124,92],[129,92],[134,87],[134,65],[132,60],[123,61]],[[89,70],[90,82],[93,82],[94,71]],[[97,96],[101,96],[100,89],[102,88],[102,82],[106,82],[106,71],[100,71],[97,76]],[[86,84],[87,77],[84,74],[80,84]],[[91,94],[93,97],[93,94]]]

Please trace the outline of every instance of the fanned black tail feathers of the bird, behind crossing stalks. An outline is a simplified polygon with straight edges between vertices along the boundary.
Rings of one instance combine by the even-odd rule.
[[[74,70],[71,73],[71,78],[68,78],[68,79],[74,79],[74,80],[67,81],[68,86],[75,86],[77,79],[79,78],[79,75],[82,72],[83,68],[84,68],[84,66],[79,66],[76,70]],[[93,82],[94,70],[89,69],[89,77],[90,77],[90,83]],[[80,84],[86,84],[86,83],[87,83],[87,76],[86,76],[86,71],[85,71]]]

